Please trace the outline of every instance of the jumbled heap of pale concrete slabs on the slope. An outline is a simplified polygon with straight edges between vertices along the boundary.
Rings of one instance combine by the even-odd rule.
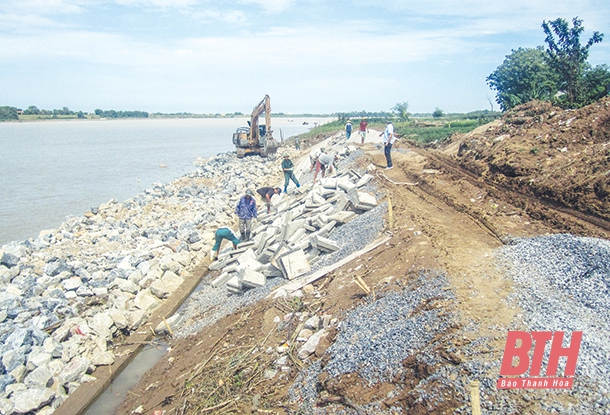
[[[333,230],[377,206],[375,195],[362,190],[372,178],[349,170],[275,196],[272,213],[259,216],[253,239],[210,264],[220,271],[212,285],[238,294],[265,285],[267,277],[292,280],[309,273],[320,255],[341,249],[328,237]]]

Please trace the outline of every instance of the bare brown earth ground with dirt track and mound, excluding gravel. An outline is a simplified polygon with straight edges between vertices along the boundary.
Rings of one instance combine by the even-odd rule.
[[[604,193],[608,189],[608,101],[600,101],[597,109],[586,109],[588,113],[566,113],[536,103],[520,111],[467,136],[454,137],[441,147],[416,147],[403,138],[394,146],[391,170],[384,169],[377,133],[369,134],[377,142],[363,145],[359,137],[353,138],[353,144],[365,153],[356,167],[364,169],[373,164],[378,168],[375,180],[391,205],[385,230],[390,239],[306,287],[300,299],[269,298],[195,336],[171,341],[170,352],[144,375],[117,413],[298,413],[299,405],[289,397],[292,382],[312,361],[324,359],[333,334],[323,339],[309,361],[294,358],[290,372],[281,379],[276,376],[267,380],[262,374],[272,364],[272,357],[265,350],[294,336],[290,330],[277,331],[274,319],[308,311],[330,314],[340,321],[365,301],[367,293],[358,280],[364,281],[373,295],[381,295],[404,286],[404,282],[416,278],[419,270],[445,272],[456,296],[448,306],[451,309],[445,311],[457,312],[464,324],[474,321],[479,328],[469,332],[458,325],[455,330],[460,335],[452,343],[458,352],[448,352],[451,355],[447,359],[460,362],[460,345],[487,336],[490,343],[486,359],[500,361],[506,331],[498,327],[509,327],[519,310],[506,301],[512,283],[497,269],[492,251],[510,237],[549,233],[610,236],[608,196]],[[559,123],[560,119],[564,121]],[[581,122],[582,129],[576,130],[575,125]],[[307,150],[302,153],[306,155]],[[496,165],[490,162],[492,159]],[[578,167],[581,164],[584,166]],[[498,166],[504,166],[504,171]],[[512,167],[511,174],[506,173],[507,166]],[[564,173],[557,174],[562,166]],[[515,174],[515,168],[527,171]],[[526,185],[533,187],[527,174],[534,175],[536,182],[544,181],[546,193],[524,190]],[[587,183],[590,178],[593,182]],[[570,183],[580,188],[588,186],[593,196],[582,190],[579,198],[570,190]],[[548,189],[554,189],[554,193]],[[573,193],[571,198],[562,199],[562,189]],[[435,306],[442,307],[442,303]],[[411,378],[397,381],[415,385],[433,371],[430,367],[413,368]],[[320,384],[325,390],[318,404],[328,413],[358,413],[361,405],[383,400],[391,389],[383,383],[369,386],[356,375],[321,379]],[[522,399],[519,393],[511,396],[520,413],[544,413],[535,399]],[[394,397],[387,399],[387,405],[402,407],[404,413],[453,413],[469,399],[453,398],[425,406]]]

